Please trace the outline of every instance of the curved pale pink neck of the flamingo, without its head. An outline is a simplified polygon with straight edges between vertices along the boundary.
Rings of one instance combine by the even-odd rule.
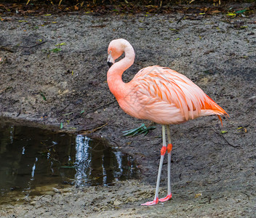
[[[119,62],[115,62],[111,68],[109,68],[107,74],[108,87],[117,100],[123,97],[124,93],[127,92],[125,89],[126,84],[123,82],[121,76],[135,60],[135,51],[131,44],[124,45],[124,53],[125,57],[119,60]]]

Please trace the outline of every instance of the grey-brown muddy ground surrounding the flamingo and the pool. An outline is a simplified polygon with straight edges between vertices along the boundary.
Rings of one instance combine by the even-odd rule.
[[[104,137],[135,157],[141,179],[65,187],[21,205],[1,205],[1,217],[256,217],[255,14],[177,10],[2,18],[0,115]],[[153,199],[161,127],[145,137],[122,136],[142,123],[153,124],[127,116],[108,90],[107,47],[116,38],[130,41],[136,52],[124,81],[145,66],[168,66],[201,86],[230,116],[223,127],[215,116],[171,126],[173,198],[158,206],[140,203]]]

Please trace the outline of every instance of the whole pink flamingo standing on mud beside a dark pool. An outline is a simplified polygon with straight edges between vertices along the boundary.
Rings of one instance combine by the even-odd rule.
[[[123,53],[125,57],[115,62]],[[196,84],[183,74],[170,68],[153,65],[141,69],[132,81],[124,83],[122,74],[135,60],[135,51],[129,41],[115,39],[108,46],[108,87],[116,97],[120,108],[135,118],[146,119],[162,126],[161,158],[153,201],[142,205],[151,206],[159,201],[169,201],[171,193],[171,151],[172,142],[169,124],[181,124],[200,116],[228,116],[216,102],[207,96]],[[167,129],[167,140],[166,140]],[[159,199],[159,184],[164,154],[168,154],[167,196]]]

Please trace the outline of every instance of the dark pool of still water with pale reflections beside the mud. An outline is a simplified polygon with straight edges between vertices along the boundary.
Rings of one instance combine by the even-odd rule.
[[[42,194],[65,184],[110,185],[137,177],[132,157],[104,140],[15,126],[0,119],[2,199]]]

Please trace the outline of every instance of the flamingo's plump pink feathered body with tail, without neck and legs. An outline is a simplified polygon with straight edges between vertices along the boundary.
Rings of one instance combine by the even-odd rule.
[[[183,74],[151,66],[140,70],[117,94],[124,112],[157,124],[180,124],[199,116],[223,115],[220,108]]]

